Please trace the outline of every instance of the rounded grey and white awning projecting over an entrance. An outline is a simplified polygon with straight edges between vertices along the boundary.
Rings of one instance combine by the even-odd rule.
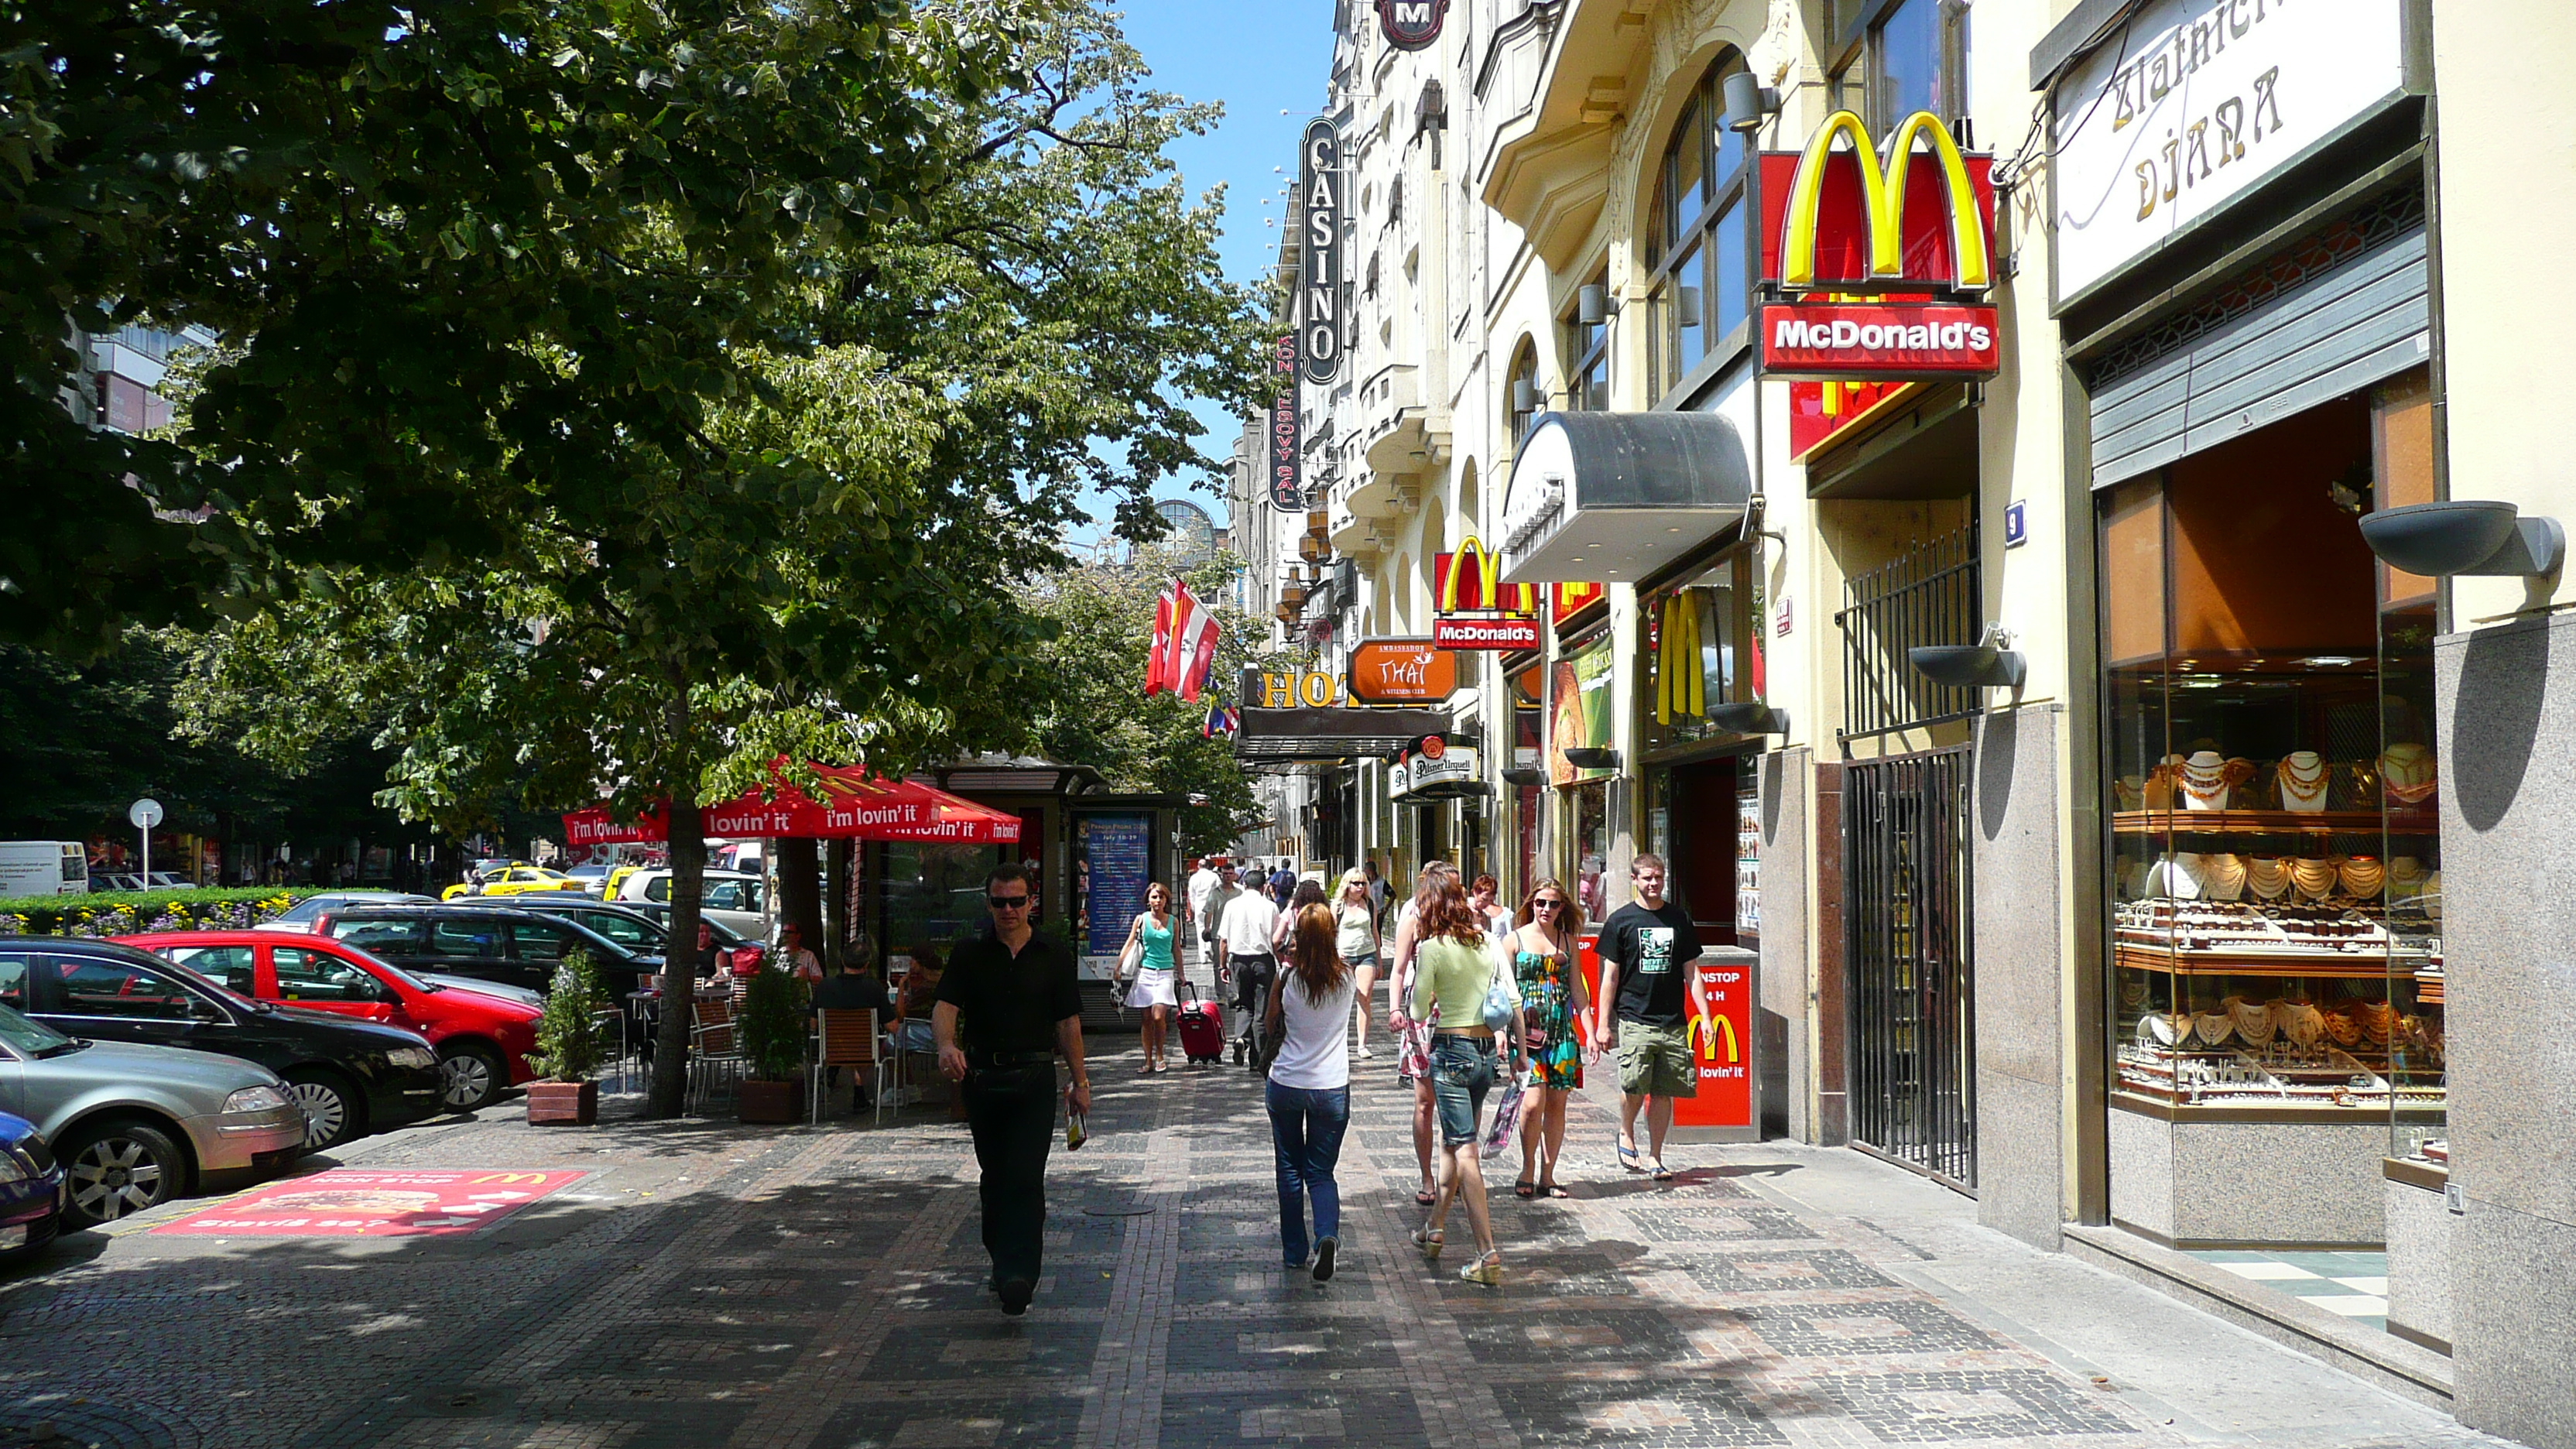
[[[1502,583],[1636,583],[1749,498],[1752,462],[1718,413],[1548,413],[1502,492]]]

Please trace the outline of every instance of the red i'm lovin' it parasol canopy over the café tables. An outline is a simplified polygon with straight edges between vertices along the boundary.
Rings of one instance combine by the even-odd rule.
[[[860,766],[814,766],[822,799],[775,784],[698,812],[703,833],[719,841],[819,838],[819,841],[953,841],[961,846],[1005,846],[1020,838],[1020,817],[948,794],[922,781],[876,779]],[[670,820],[649,810],[618,822],[608,807],[564,815],[567,846],[631,846],[667,841]]]

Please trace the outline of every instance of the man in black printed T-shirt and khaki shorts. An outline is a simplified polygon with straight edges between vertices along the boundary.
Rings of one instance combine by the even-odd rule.
[[[1649,1171],[1636,1155],[1636,1114],[1646,1109],[1646,1142],[1654,1181],[1669,1183],[1664,1132],[1672,1129],[1672,1101],[1700,1096],[1700,1067],[1690,1060],[1690,1016],[1708,1016],[1708,987],[1700,982],[1700,931],[1690,913],[1664,900],[1664,859],[1638,856],[1628,866],[1636,900],[1602,920],[1602,990],[1592,1039],[1618,1047],[1618,1160],[1631,1173]],[[1613,1011],[1618,1016],[1613,1016]]]

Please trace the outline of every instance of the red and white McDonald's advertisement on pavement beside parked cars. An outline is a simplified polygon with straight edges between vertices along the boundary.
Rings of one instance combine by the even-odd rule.
[[[332,1168],[309,1178],[265,1183],[201,1207],[152,1232],[191,1238],[435,1238],[479,1232],[502,1217],[577,1183],[580,1171],[420,1171],[368,1173]]]

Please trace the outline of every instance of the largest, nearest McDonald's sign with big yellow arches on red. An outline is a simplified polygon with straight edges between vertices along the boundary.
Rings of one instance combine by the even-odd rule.
[[[1762,155],[1762,276],[1767,376],[1994,376],[1994,157],[1960,155],[1929,111],[1880,155],[1834,111],[1806,150]]]

